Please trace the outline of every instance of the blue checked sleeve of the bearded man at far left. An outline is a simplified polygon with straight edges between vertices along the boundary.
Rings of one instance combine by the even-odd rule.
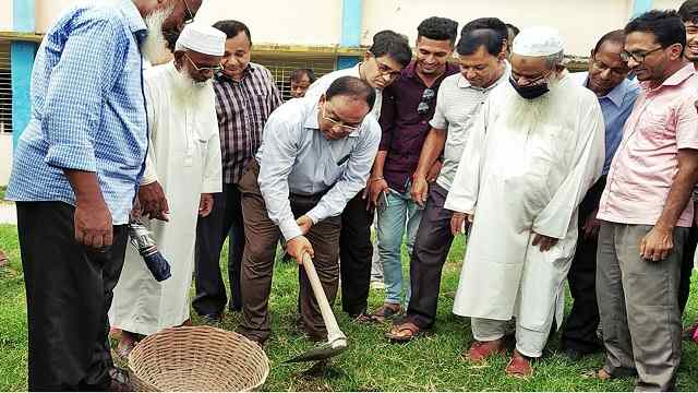
[[[45,98],[41,132],[49,144],[48,165],[97,170],[94,133],[99,130],[103,97],[125,63],[127,34],[109,20],[75,20]]]

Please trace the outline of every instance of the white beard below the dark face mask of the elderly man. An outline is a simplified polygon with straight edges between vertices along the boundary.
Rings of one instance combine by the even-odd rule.
[[[542,96],[527,99],[521,97],[510,83],[507,83],[507,94],[502,106],[505,108],[506,124],[514,130],[528,131],[537,130],[540,124],[554,122],[555,111],[553,109],[561,90],[559,79],[549,79],[547,88],[550,91]]]

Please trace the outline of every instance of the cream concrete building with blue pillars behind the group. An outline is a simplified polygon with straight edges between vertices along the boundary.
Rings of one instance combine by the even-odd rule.
[[[109,1],[109,0],[96,0]],[[13,140],[24,129],[34,52],[41,35],[67,8],[82,0],[0,0],[0,184],[8,181]],[[519,27],[559,29],[566,52],[588,56],[604,33],[649,9],[675,9],[682,0],[204,0],[197,21],[236,19],[250,26],[253,61],[267,66],[282,91],[296,68],[317,75],[354,64],[373,34],[392,28],[413,43],[428,16],[464,24],[497,16]],[[237,5],[237,7],[236,7]]]

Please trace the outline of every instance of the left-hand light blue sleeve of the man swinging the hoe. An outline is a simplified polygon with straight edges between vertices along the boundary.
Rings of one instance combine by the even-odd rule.
[[[284,238],[291,240],[303,233],[293,218],[289,201],[288,176],[298,154],[299,129],[293,129],[281,116],[274,114],[264,126],[262,156],[257,183],[269,219],[278,225]]]

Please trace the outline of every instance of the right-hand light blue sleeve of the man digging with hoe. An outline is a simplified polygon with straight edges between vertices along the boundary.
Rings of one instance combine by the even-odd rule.
[[[317,224],[327,217],[341,214],[347,202],[366,186],[371,166],[373,166],[381,142],[381,126],[372,116],[366,117],[365,129],[359,138],[361,141],[351,152],[347,167],[339,180],[320,200],[317,205],[306,213],[313,223]]]

